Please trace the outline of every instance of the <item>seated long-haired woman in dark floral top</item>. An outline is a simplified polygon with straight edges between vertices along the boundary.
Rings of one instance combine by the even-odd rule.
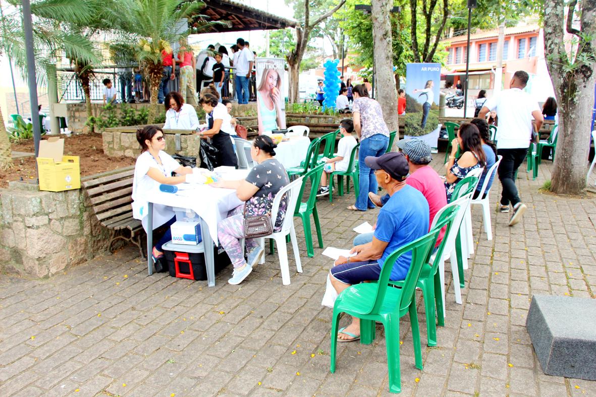
[[[456,159],[455,154],[458,149],[461,149],[461,156]],[[451,156],[445,165],[447,202],[451,202],[451,195],[457,182],[464,179],[471,170],[484,166],[486,166],[486,156],[482,149],[480,131],[471,123],[462,123],[457,131],[457,138],[451,142]]]

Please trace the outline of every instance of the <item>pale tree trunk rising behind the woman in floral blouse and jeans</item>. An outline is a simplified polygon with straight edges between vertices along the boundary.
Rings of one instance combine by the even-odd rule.
[[[393,44],[391,36],[391,22],[389,13],[393,1],[373,0],[373,39],[375,62],[375,86],[377,86],[377,101],[383,109],[383,119],[389,131],[397,131],[398,123],[398,92],[395,89],[393,77]],[[399,140],[396,137],[395,142]]]

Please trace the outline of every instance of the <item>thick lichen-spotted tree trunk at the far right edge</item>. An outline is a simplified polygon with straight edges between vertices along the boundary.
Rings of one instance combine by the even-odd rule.
[[[545,53],[550,54],[547,66],[559,114],[557,151],[551,176],[551,190],[557,194],[581,194],[585,189],[596,83],[594,65],[581,60],[596,49],[596,0],[581,2],[581,35],[571,24],[575,5],[575,1],[570,3],[567,19],[567,32],[580,39],[574,60],[569,60],[561,40],[564,36],[564,1],[545,2],[544,8]],[[582,37],[590,41],[583,41]],[[575,68],[569,67],[572,63]]]

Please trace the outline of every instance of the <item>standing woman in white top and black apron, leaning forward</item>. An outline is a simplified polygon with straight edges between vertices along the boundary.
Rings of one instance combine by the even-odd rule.
[[[201,138],[211,138],[213,146],[218,148],[218,165],[238,168],[238,158],[231,138],[231,135],[236,135],[236,130],[230,123],[232,116],[229,115],[228,108],[212,94],[201,95],[200,103],[206,113],[209,129],[198,134]]]

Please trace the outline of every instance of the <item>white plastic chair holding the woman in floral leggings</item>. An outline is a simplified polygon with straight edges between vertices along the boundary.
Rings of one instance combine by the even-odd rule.
[[[277,254],[280,257],[280,268],[281,268],[281,280],[284,286],[290,284],[290,265],[288,263],[288,250],[285,245],[285,236],[290,235],[290,241],[292,243],[292,249],[294,250],[294,259],[296,260],[296,270],[302,273],[302,263],[300,263],[300,252],[298,250],[298,240],[296,238],[296,229],[294,228],[294,211],[298,200],[300,200],[300,188],[302,187],[302,179],[300,176],[290,184],[285,186],[283,189],[278,191],[273,200],[273,206],[271,208],[271,219],[275,222],[277,219],[277,212],[280,209],[281,198],[287,193],[288,197],[287,208],[285,210],[284,223],[281,225],[281,229],[278,232],[274,232],[268,236],[260,238],[260,246],[265,249],[265,238],[273,238],[275,245],[277,246]],[[264,258],[264,256],[262,257]]]

